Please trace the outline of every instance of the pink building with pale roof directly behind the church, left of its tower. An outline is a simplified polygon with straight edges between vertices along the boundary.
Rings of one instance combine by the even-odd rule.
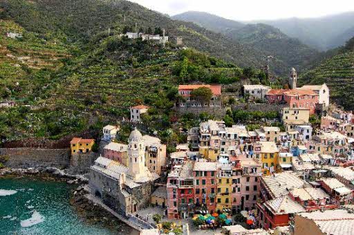
[[[104,158],[109,158],[127,166],[128,145],[111,142],[104,147]]]

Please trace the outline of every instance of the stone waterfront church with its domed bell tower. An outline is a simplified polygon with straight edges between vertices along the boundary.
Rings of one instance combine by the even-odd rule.
[[[145,166],[145,144],[140,131],[129,135],[129,167],[108,158],[97,158],[91,167],[89,185],[95,196],[122,215],[149,206],[153,182],[158,180]]]

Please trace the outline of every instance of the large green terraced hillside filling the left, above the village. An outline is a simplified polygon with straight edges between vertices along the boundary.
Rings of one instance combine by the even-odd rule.
[[[145,30],[166,28],[170,37],[186,35],[189,47],[214,55],[238,51],[237,57],[247,61],[233,42],[227,48],[214,32],[172,21],[128,1],[9,0],[1,1],[0,9],[0,66],[6,68],[1,70],[0,100],[18,104],[0,109],[1,142],[57,140],[70,133],[100,130],[104,124],[128,118],[129,106],[136,104],[151,106],[145,120],[150,131],[158,130],[162,139],[178,138],[179,131],[166,132],[178,120],[171,109],[178,84],[239,88],[241,79],[259,82],[263,77],[249,69],[243,74],[239,66],[194,49],[120,37],[124,28],[136,22]],[[19,37],[7,37],[8,32]],[[220,51],[212,53],[212,49]],[[198,117],[178,123],[193,118]]]

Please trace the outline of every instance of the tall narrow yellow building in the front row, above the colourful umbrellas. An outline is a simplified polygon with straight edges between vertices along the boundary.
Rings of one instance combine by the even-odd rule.
[[[217,175],[216,212],[232,209],[232,164],[223,164]]]

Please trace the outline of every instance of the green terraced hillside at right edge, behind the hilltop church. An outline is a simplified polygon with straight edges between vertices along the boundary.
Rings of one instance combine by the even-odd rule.
[[[338,48],[335,55],[325,59],[316,68],[300,77],[300,82],[326,83],[334,101],[346,109],[354,109],[354,37],[346,46]]]

